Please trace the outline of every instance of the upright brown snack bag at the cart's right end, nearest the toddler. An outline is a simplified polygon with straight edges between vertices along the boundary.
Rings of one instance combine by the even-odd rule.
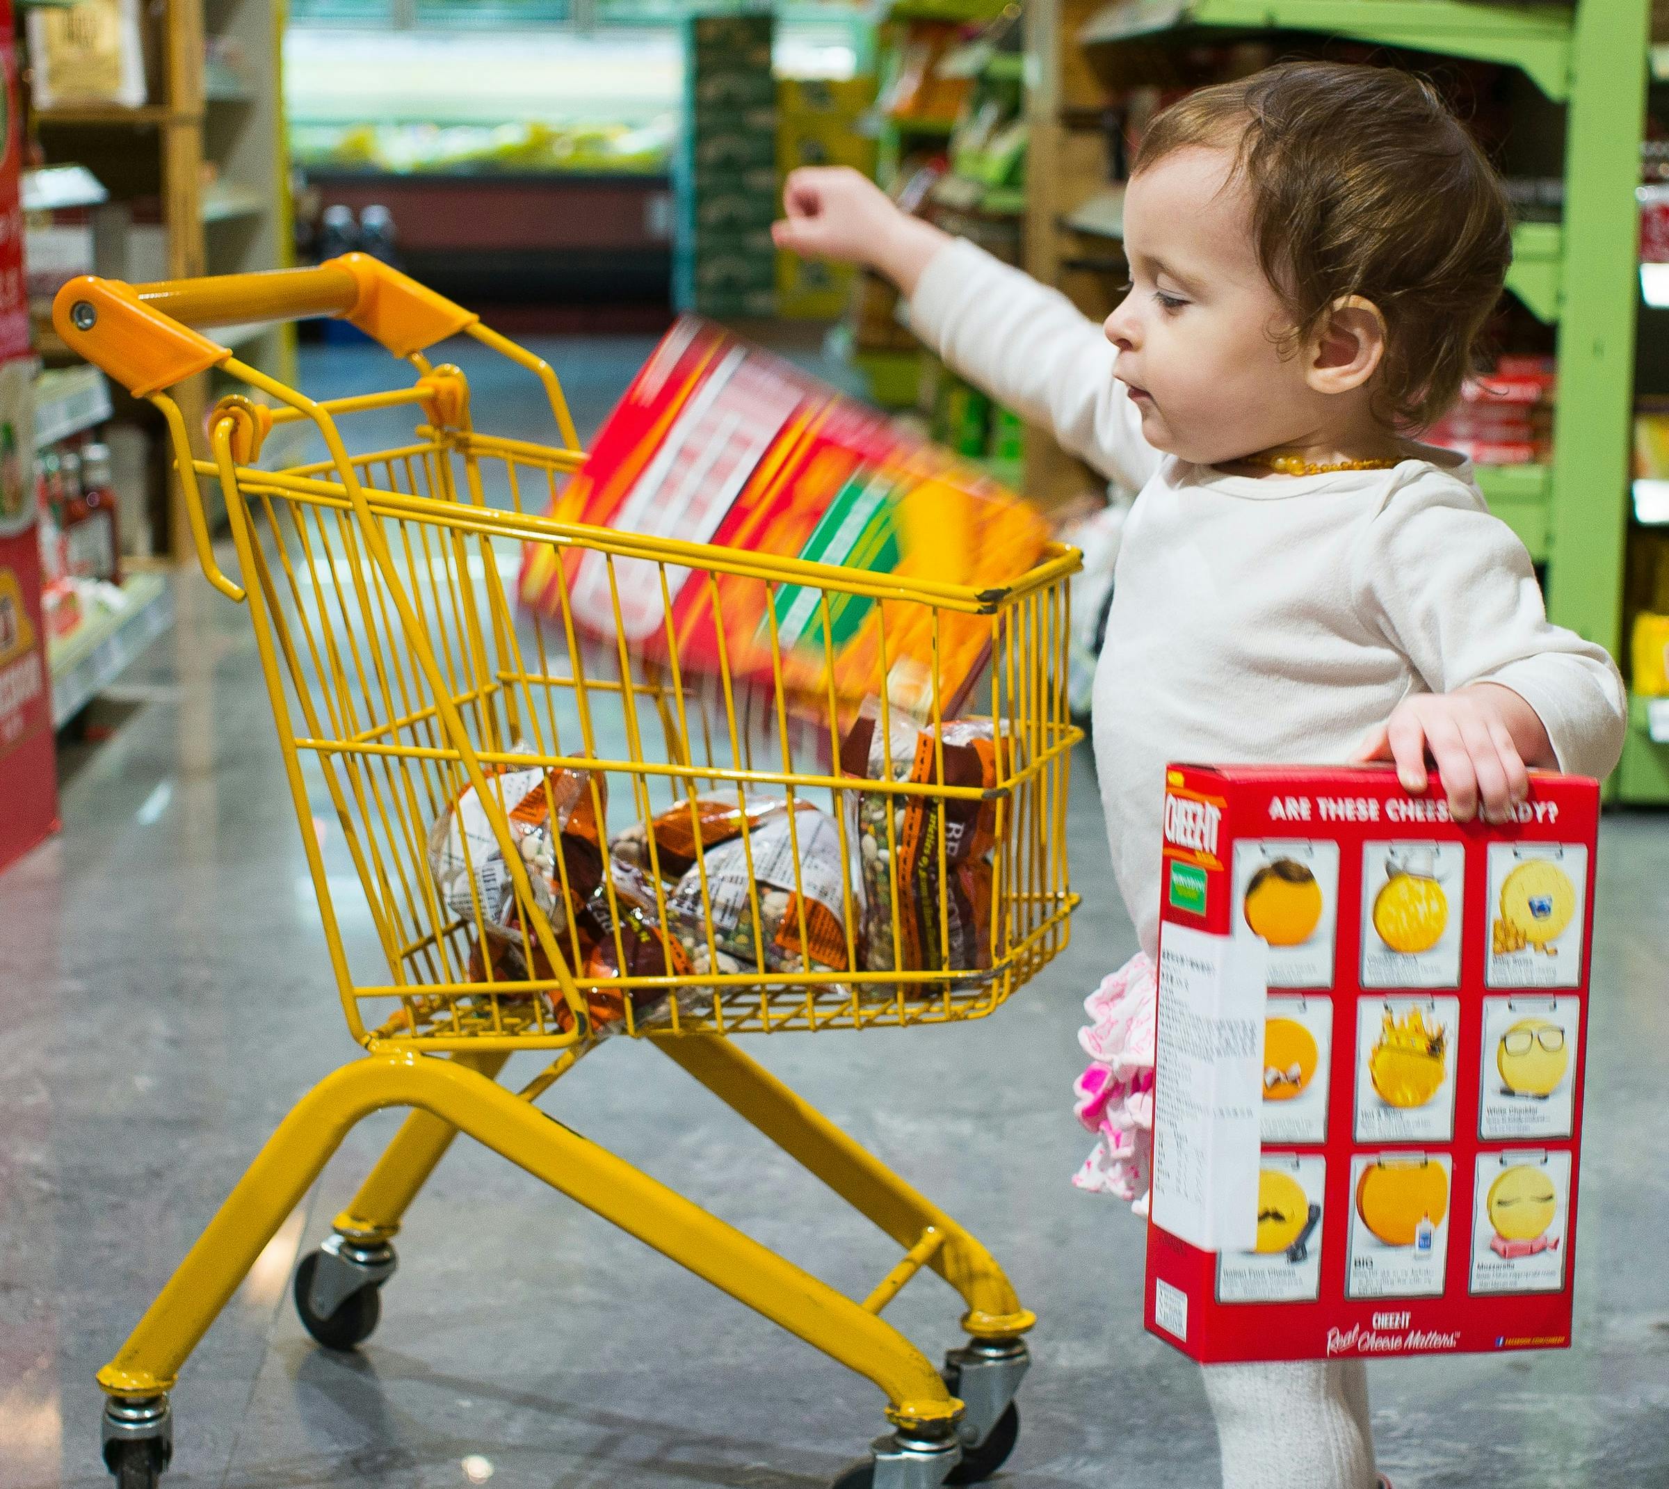
[[[885,734],[866,706],[841,746],[841,770],[875,781],[936,783],[943,743],[946,786],[991,790],[1001,776],[990,719],[953,719],[935,734],[931,726],[895,716]],[[850,800],[858,840],[853,873],[863,896],[863,965],[871,972],[990,968],[996,803],[885,791],[855,791]]]

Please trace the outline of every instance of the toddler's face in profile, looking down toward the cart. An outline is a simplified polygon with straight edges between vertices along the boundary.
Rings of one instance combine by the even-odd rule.
[[[1233,155],[1167,155],[1125,192],[1130,294],[1107,317],[1115,374],[1155,449],[1202,466],[1298,444],[1325,422],[1305,349],[1282,357],[1290,317],[1263,275]]]

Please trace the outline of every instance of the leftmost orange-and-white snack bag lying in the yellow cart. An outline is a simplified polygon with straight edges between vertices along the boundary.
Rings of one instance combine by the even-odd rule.
[[[531,751],[517,746],[514,753]],[[552,920],[564,946],[584,951],[564,931],[574,930],[574,911],[603,883],[598,815],[608,803],[606,778],[539,765],[499,765],[484,775],[487,791],[509,820],[511,841],[527,868],[536,908]],[[511,870],[474,786],[466,786],[431,826],[429,868],[447,913],[474,923],[479,905],[487,935],[521,940]]]

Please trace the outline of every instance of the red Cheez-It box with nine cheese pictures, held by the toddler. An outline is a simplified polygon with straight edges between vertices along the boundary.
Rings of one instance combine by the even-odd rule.
[[[1207,1364],[1571,1342],[1599,786],[1172,766],[1147,1327]]]

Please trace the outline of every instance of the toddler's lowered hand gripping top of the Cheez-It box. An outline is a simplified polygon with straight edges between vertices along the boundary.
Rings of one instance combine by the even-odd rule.
[[[1540,716],[1510,688],[1474,683],[1459,693],[1415,693],[1357,751],[1357,761],[1394,760],[1405,791],[1427,786],[1425,758],[1442,773],[1449,811],[1504,821],[1530,793],[1525,765],[1557,765]]]

